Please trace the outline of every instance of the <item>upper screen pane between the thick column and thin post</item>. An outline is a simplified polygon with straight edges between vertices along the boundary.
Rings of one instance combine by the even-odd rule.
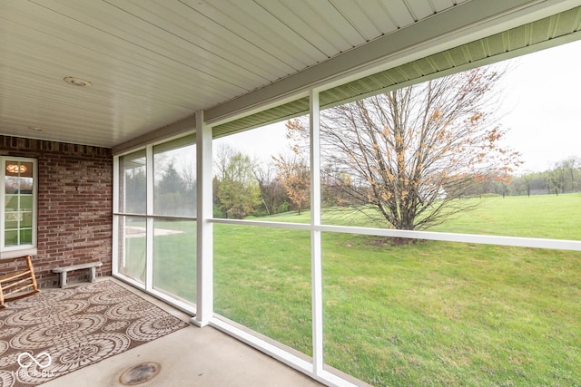
[[[309,223],[308,144],[294,121],[214,140],[214,217]]]

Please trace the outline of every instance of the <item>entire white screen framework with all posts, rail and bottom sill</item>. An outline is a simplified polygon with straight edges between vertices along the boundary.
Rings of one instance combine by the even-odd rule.
[[[429,231],[408,231],[383,228],[368,227],[344,227],[321,224],[320,221],[320,130],[319,130],[319,93],[320,89],[310,90],[310,171],[311,171],[311,218],[309,224],[295,223],[277,223],[267,221],[220,219],[212,217],[212,126],[203,120],[203,111],[196,113],[196,127],[198,139],[197,147],[197,305],[181,305],[169,295],[157,292],[151,285],[152,278],[147,276],[145,285],[136,283],[131,278],[122,276],[117,271],[117,262],[119,257],[116,241],[119,230],[119,217],[131,215],[123,214],[119,211],[118,203],[118,162],[119,156],[114,158],[114,181],[113,185],[113,276],[117,276],[124,281],[142,288],[150,295],[157,296],[170,305],[182,309],[186,313],[195,314],[192,317],[192,324],[198,326],[210,325],[224,333],[241,340],[259,349],[261,352],[268,353],[281,363],[286,363],[292,368],[309,375],[314,380],[323,382],[333,387],[354,387],[358,385],[349,378],[344,378],[335,371],[327,369],[323,353],[323,300],[322,300],[322,259],[321,259],[321,234],[328,233],[350,233],[355,235],[369,235],[381,237],[405,237],[411,239],[429,239],[459,243],[474,243],[510,247],[534,247],[534,248],[551,248],[559,250],[581,251],[581,241],[577,240],[556,240],[542,239],[535,237],[503,237],[487,235],[470,235],[458,233],[441,233]],[[153,144],[145,147],[147,150],[147,160],[152,159]],[[134,151],[134,150],[133,150]],[[153,181],[153,165],[148,164],[148,181]],[[146,217],[153,222],[153,184],[148,183],[148,211]],[[213,238],[212,225],[214,223],[230,225],[246,225],[256,227],[281,227],[288,229],[299,229],[310,232],[310,258],[311,258],[311,307],[312,307],[312,350],[313,355],[310,360],[306,360],[296,353],[287,351],[283,346],[272,343],[270,340],[257,335],[249,328],[241,327],[238,324],[231,324],[230,321],[223,318],[213,311]],[[153,225],[151,225],[153,226]],[[153,227],[148,229],[153,229]],[[150,231],[152,232],[152,231]],[[153,237],[149,236],[148,237]],[[151,251],[152,247],[148,246]],[[149,255],[149,253],[148,253]],[[147,272],[151,273],[151,257],[149,257]],[[349,379],[349,380],[348,380]]]

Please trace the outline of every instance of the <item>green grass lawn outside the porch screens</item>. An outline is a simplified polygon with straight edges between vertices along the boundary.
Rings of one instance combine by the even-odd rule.
[[[481,204],[434,230],[581,239],[578,194]],[[378,386],[581,386],[581,252],[336,233],[322,251],[326,364]],[[310,292],[308,231],[214,225],[216,313],[310,355]]]

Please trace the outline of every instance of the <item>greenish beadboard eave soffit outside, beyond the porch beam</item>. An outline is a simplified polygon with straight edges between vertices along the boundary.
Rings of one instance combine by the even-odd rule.
[[[330,88],[320,92],[320,108],[326,109],[352,102],[411,82],[427,80],[438,74],[454,73],[518,54],[531,53],[546,48],[547,44],[559,39],[563,39],[563,42],[581,39],[581,6]],[[272,122],[299,117],[307,114],[309,108],[309,98],[303,97],[239,120],[214,126],[213,136],[219,138]]]

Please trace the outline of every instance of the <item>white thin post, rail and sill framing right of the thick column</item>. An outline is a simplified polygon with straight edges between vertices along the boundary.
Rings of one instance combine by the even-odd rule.
[[[429,239],[436,241],[473,243],[484,245],[497,245],[509,247],[548,248],[557,250],[581,251],[581,241],[560,240],[537,237],[504,237],[459,233],[443,233],[418,230],[397,230],[369,227],[346,227],[321,224],[320,208],[320,102],[319,94],[322,89],[310,90],[310,184],[311,184],[311,208],[310,224],[278,223],[252,220],[219,219],[210,218],[211,223],[229,225],[246,225],[256,227],[281,227],[288,229],[301,229],[310,231],[310,259],[311,259],[311,284],[312,284],[312,359],[307,361],[300,356],[290,353],[260,335],[250,330],[231,324],[220,315],[215,314],[209,324],[222,332],[231,334],[244,343],[253,346],[264,353],[268,353],[282,363],[309,375],[314,380],[331,387],[356,387],[358,383],[348,380],[335,371],[330,371],[325,366],[323,353],[323,295],[322,295],[322,251],[321,235],[327,233],[349,233],[354,235],[369,235],[379,237],[404,237],[409,239]],[[210,193],[206,193],[209,195]],[[202,288],[202,290],[204,290]],[[206,291],[210,292],[211,289]],[[340,371],[339,371],[340,372]]]

